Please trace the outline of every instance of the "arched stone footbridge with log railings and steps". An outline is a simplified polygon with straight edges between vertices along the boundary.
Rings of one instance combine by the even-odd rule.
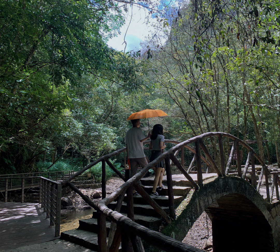
[[[210,138],[218,138],[218,141],[216,140],[218,160],[210,154],[207,144]],[[233,144],[226,163],[223,144],[227,138],[233,140]],[[209,132],[181,143],[168,141],[176,145],[128,180],[109,161],[109,158],[125,152],[125,148],[122,148],[102,156],[63,181],[62,184],[78,193],[96,212],[90,220],[80,221],[79,229],[63,232],[61,237],[100,252],[119,251],[120,244],[122,251],[128,252],[144,252],[145,249],[151,251],[152,247],[170,252],[202,251],[181,241],[195,220],[203,211],[206,211],[212,219],[214,252],[245,251],[246,249],[248,251],[280,251],[278,171],[269,170],[251,147],[228,133]],[[194,148],[190,147],[190,144],[193,144]],[[241,157],[237,155],[237,170],[232,171],[234,151],[239,153],[240,145],[248,150],[246,164],[242,168]],[[195,174],[190,173],[193,164],[186,170],[183,162],[176,158],[176,154],[179,151],[183,153],[184,148],[195,154],[193,158],[197,163]],[[143,179],[143,176],[160,160],[165,161],[164,182],[167,184],[167,189],[164,191],[165,195],[160,198],[151,198],[148,194],[151,189],[148,184],[149,179]],[[202,173],[202,161],[206,162],[214,173],[211,175]],[[83,195],[71,183],[71,180],[99,162],[102,162],[103,199],[96,204]],[[259,179],[255,172],[255,162],[262,167]],[[125,181],[120,188],[107,197],[106,163]],[[172,174],[171,163],[176,165],[184,179]],[[273,177],[271,187],[269,187],[269,177]],[[139,184],[140,180],[144,188]],[[132,186],[137,189],[141,197],[132,196]],[[274,190],[276,199],[273,197]],[[183,195],[180,194],[182,191]],[[147,216],[146,219],[143,217],[139,219],[140,213],[143,214],[143,208],[146,215],[150,213],[154,216],[154,220],[158,218],[165,222],[161,232],[158,232],[158,227],[154,228],[147,224]]]

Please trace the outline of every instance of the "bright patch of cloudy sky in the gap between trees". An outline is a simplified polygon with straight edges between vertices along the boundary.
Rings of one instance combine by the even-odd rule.
[[[117,37],[109,39],[107,44],[116,50],[123,51],[125,48],[123,39],[127,30],[125,36],[125,41],[127,42],[125,52],[131,50],[138,51],[140,49],[140,43],[145,40],[148,34],[151,35],[155,33],[153,24],[155,24],[156,19],[149,18],[149,23],[147,24],[148,19],[146,17],[151,17],[151,15],[149,15],[148,11],[143,8],[139,9],[137,6],[133,6],[132,8],[129,7],[129,11],[126,14],[125,24],[121,27],[120,34]]]

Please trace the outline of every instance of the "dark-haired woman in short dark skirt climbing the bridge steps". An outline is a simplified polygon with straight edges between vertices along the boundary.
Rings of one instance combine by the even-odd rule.
[[[164,144],[164,135],[163,135],[163,126],[161,124],[155,124],[151,133],[151,142],[149,149],[151,149],[151,157],[150,162],[155,160],[160,154],[162,150],[166,147]],[[151,196],[159,197],[156,189],[158,186],[158,190],[163,188],[162,186],[162,177],[164,174],[164,165],[163,161],[158,162],[154,167],[155,171],[155,179],[153,184],[153,191]]]

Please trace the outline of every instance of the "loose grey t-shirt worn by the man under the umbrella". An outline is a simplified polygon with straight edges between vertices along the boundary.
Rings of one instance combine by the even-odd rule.
[[[143,143],[140,140],[145,136],[141,128],[134,127],[125,133],[124,142],[127,144],[128,158],[144,158]]]

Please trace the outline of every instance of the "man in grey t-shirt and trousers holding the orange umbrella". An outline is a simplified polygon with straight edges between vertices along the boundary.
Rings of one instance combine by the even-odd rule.
[[[144,154],[143,142],[150,138],[149,133],[147,137],[144,136],[142,129],[140,128],[140,120],[131,120],[132,128],[125,133],[125,143],[127,150],[127,157],[130,161],[130,178],[137,173],[139,165],[145,167],[148,165],[148,161]],[[133,188],[133,196],[138,195]]]

